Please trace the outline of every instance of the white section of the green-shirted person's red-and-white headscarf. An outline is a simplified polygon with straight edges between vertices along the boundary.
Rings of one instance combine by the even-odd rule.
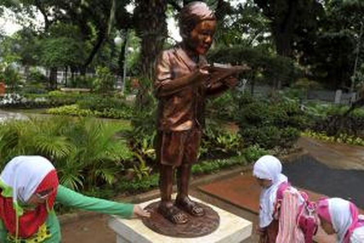
[[[12,188],[14,203],[18,199],[25,203],[52,170],[54,166],[45,157],[17,156],[6,164],[0,180]]]

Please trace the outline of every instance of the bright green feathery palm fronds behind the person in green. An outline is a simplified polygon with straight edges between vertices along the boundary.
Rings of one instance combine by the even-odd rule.
[[[41,155],[68,187],[113,184],[132,157],[126,142],[115,138],[121,129],[116,122],[62,117],[7,122],[0,126],[0,167],[17,155]]]

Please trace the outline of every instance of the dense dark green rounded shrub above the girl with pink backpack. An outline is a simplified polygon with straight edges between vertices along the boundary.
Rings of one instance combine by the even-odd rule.
[[[292,100],[240,104],[238,124],[246,145],[258,144],[265,149],[289,148],[298,139],[299,130],[308,126],[299,104]]]

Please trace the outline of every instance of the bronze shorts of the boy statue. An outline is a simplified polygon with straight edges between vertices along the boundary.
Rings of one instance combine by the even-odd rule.
[[[201,130],[158,131],[156,138],[157,161],[163,165],[180,166],[197,161]]]

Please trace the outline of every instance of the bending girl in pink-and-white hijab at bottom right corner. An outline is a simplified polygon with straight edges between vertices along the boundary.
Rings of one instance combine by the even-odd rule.
[[[342,198],[322,199],[317,214],[327,234],[335,234],[338,243],[364,243],[364,215]]]

